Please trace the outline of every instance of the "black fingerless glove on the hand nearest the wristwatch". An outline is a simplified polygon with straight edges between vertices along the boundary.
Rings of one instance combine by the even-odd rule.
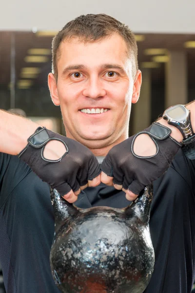
[[[133,151],[138,135],[147,133],[156,144],[156,154],[137,156]],[[113,183],[122,185],[135,194],[160,177],[169,167],[176,152],[182,146],[171,136],[171,129],[153,123],[150,127],[114,146],[103,160],[100,168]]]

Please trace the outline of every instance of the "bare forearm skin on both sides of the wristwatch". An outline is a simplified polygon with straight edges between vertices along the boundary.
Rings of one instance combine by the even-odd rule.
[[[195,101],[187,104],[186,107],[191,111],[191,123],[192,123],[192,128],[195,132]],[[158,120],[158,123],[170,128],[172,130],[171,136],[174,139],[176,139],[176,141],[182,142],[183,136],[182,136],[181,132],[175,126],[168,124],[167,121],[164,120],[163,118],[160,118]]]

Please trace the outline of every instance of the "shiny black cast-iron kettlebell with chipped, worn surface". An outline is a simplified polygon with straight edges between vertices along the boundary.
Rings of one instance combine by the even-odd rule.
[[[51,189],[55,233],[50,266],[62,293],[143,293],[155,263],[152,198],[148,186],[126,208],[80,209]]]

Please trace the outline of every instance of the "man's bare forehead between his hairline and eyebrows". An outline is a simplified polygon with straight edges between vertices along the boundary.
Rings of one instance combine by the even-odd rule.
[[[82,42],[78,38],[64,40],[59,46],[58,70],[64,65],[113,63],[124,65],[128,57],[126,42],[118,34],[95,42]]]

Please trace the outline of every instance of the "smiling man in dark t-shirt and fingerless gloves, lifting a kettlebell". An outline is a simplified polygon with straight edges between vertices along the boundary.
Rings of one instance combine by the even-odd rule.
[[[66,137],[0,111],[0,261],[6,291],[59,292],[49,266],[54,215],[47,184],[81,208],[122,208],[160,177],[153,182],[150,220],[156,264],[145,293],[190,293],[195,161],[181,150],[182,129],[163,119],[128,138],[131,103],[141,86],[132,32],[103,14],[70,21],[54,38],[48,84]],[[195,103],[187,108],[195,130]],[[101,173],[95,156],[106,156]]]

